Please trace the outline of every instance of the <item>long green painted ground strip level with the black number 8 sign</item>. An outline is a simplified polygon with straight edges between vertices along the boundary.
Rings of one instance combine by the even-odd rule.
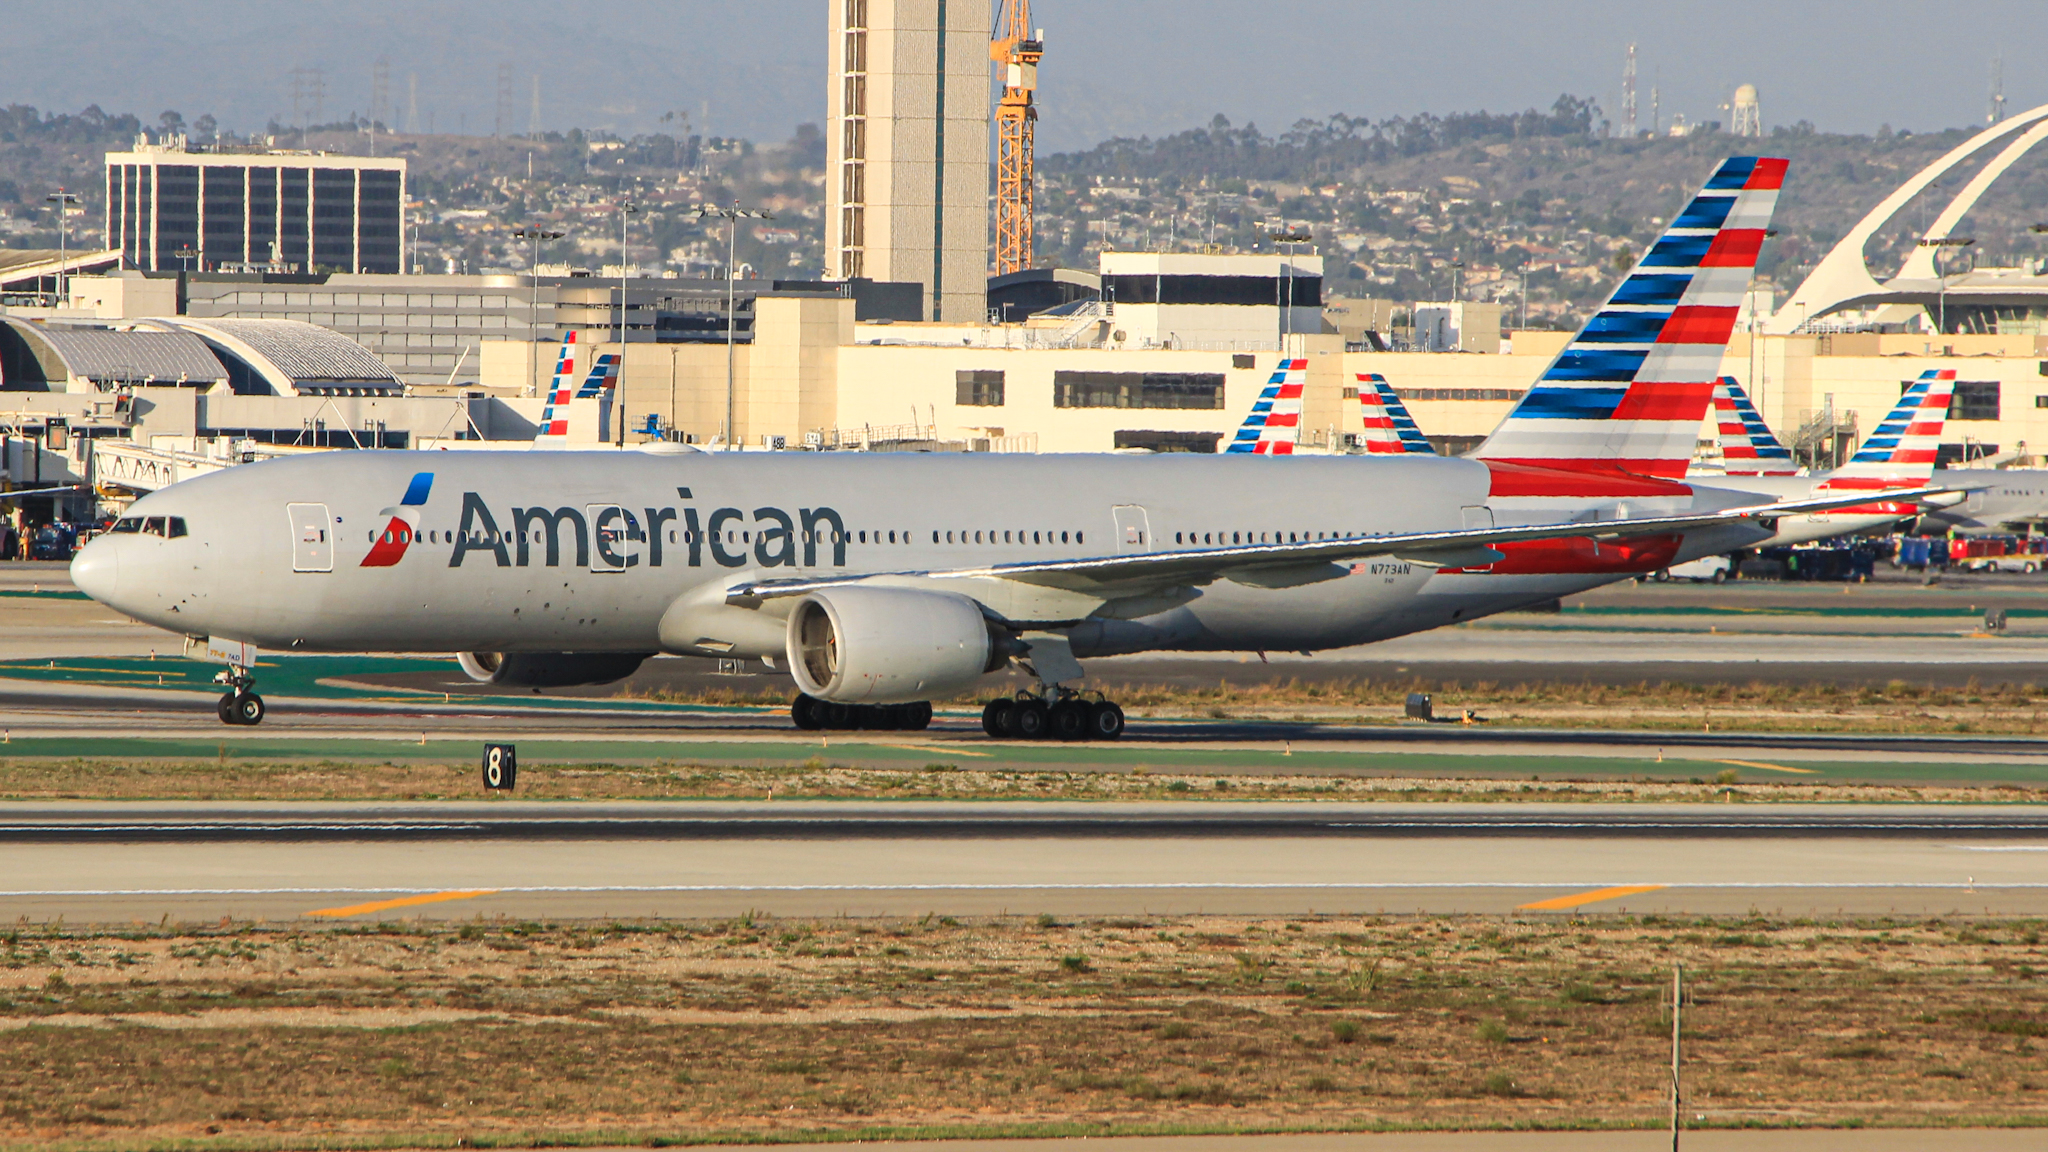
[[[1028,773],[1130,773],[1137,769],[1180,775],[1397,775],[1397,777],[1532,777],[1544,779],[1712,779],[1735,769],[1743,783],[1831,781],[1831,783],[2048,783],[2048,760],[1954,763],[1954,760],[1772,760],[1757,752],[1753,763],[1788,771],[1739,765],[1724,758],[1671,756],[1583,756],[1473,752],[1348,752],[1270,748],[1171,748],[1157,744],[999,744],[911,742],[889,734],[856,740],[834,734],[825,740],[514,740],[528,767],[573,765],[694,765],[745,769],[803,769],[815,765],[922,769],[946,765],[975,771]],[[35,736],[0,744],[0,758],[82,758],[82,760],[434,760],[469,763],[481,754],[479,740],[311,740],[223,734],[219,740],[162,740],[127,736]],[[1798,771],[1804,769],[1804,771]]]

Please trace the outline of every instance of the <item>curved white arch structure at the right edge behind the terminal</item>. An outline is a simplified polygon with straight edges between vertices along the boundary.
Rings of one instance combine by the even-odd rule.
[[[1821,316],[1827,316],[1829,312],[1835,312],[1851,301],[1872,295],[1882,295],[1884,285],[1880,285],[1876,277],[1870,275],[1870,266],[1864,262],[1864,244],[1868,244],[1870,238],[1880,228],[1884,228],[1888,219],[1898,215],[1898,209],[1907,207],[1913,201],[1913,197],[1921,195],[1921,191],[1925,191],[1927,184],[1939,180],[1956,164],[1962,164],[1970,156],[1976,156],[1985,148],[1997,143],[1999,139],[2019,129],[2030,129],[2030,131],[2025,131],[2019,139],[2011,141],[2003,152],[1999,152],[1997,158],[1991,160],[1991,164],[1985,164],[1985,168],[1976,176],[1972,176],[1970,182],[1964,184],[1960,193],[1956,193],[1956,199],[1950,201],[1948,207],[1942,209],[1942,215],[1937,215],[1935,221],[1927,228],[1923,240],[1935,236],[1948,236],[1948,230],[1954,228],[1956,221],[1964,217],[1964,213],[1976,207],[1976,199],[1985,195],[1985,189],[1989,189],[1993,180],[2003,176],[2005,170],[2011,168],[2015,160],[2025,156],[2028,150],[2032,150],[2036,143],[2048,137],[2048,105],[2042,105],[2038,109],[2028,109],[2015,117],[2007,117],[1987,127],[1985,131],[1952,148],[1946,156],[1942,156],[1933,164],[1921,168],[1905,184],[1898,184],[1898,189],[1892,191],[1892,195],[1884,197],[1884,201],[1880,201],[1878,207],[1870,209],[1870,213],[1864,215],[1864,219],[1860,219],[1855,228],[1851,228],[1849,234],[1841,238],[1841,244],[1835,244],[1835,248],[1831,248],[1829,254],[1823,256],[1819,264],[1815,264],[1812,273],[1808,273],[1806,279],[1798,285],[1798,289],[1792,291],[1792,297],[1786,299],[1784,307],[1780,307],[1769,318],[1769,322],[1763,326],[1763,332],[1774,336],[1784,336],[1788,332],[1794,332],[1800,324],[1808,320],[1819,320]],[[1927,246],[1915,248],[1913,254],[1907,256],[1907,262],[1898,271],[1898,275],[1931,279],[1935,275],[1933,248]]]

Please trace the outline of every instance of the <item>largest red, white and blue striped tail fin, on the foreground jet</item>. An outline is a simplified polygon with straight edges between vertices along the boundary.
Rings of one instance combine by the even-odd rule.
[[[1784,174],[1724,160],[1473,455],[1683,478]]]

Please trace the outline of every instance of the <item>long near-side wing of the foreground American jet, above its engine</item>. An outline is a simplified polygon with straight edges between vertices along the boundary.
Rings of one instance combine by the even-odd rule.
[[[1884,500],[1923,500],[1954,492],[1954,488],[1901,488],[1884,492]],[[1171,586],[1196,586],[1214,580],[1241,580],[1262,586],[1311,584],[1343,574],[1343,562],[1393,556],[1427,568],[1485,568],[1503,553],[1495,543],[1532,539],[1628,539],[1667,535],[1712,527],[1753,523],[1772,531],[1780,517],[1833,512],[1870,504],[1870,492],[1835,494],[1778,504],[1745,504],[1714,512],[1683,517],[1638,517],[1622,521],[1577,521],[1556,525],[1524,525],[1505,529],[1450,529],[1436,533],[1386,533],[1350,539],[1319,539],[1300,543],[1245,543],[1223,547],[1176,547],[1128,556],[1098,556],[1081,560],[1026,560],[981,568],[944,568],[924,572],[870,572],[821,578],[750,580],[727,588],[725,603],[760,607],[762,601],[801,596],[821,588],[860,584],[868,580],[1016,580],[1047,588],[1092,592],[1100,596],[1145,594]]]

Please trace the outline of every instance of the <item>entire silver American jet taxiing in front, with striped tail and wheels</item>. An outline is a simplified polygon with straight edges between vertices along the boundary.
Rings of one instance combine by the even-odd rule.
[[[143,496],[72,576],[227,648],[231,724],[264,713],[252,648],[459,652],[537,687],[668,652],[786,660],[805,728],[922,728],[1018,662],[1040,691],[991,701],[991,732],[1114,738],[1090,656],[1366,644],[1868,500],[1683,480],[1784,168],[1720,164],[1466,459],[319,453]]]

